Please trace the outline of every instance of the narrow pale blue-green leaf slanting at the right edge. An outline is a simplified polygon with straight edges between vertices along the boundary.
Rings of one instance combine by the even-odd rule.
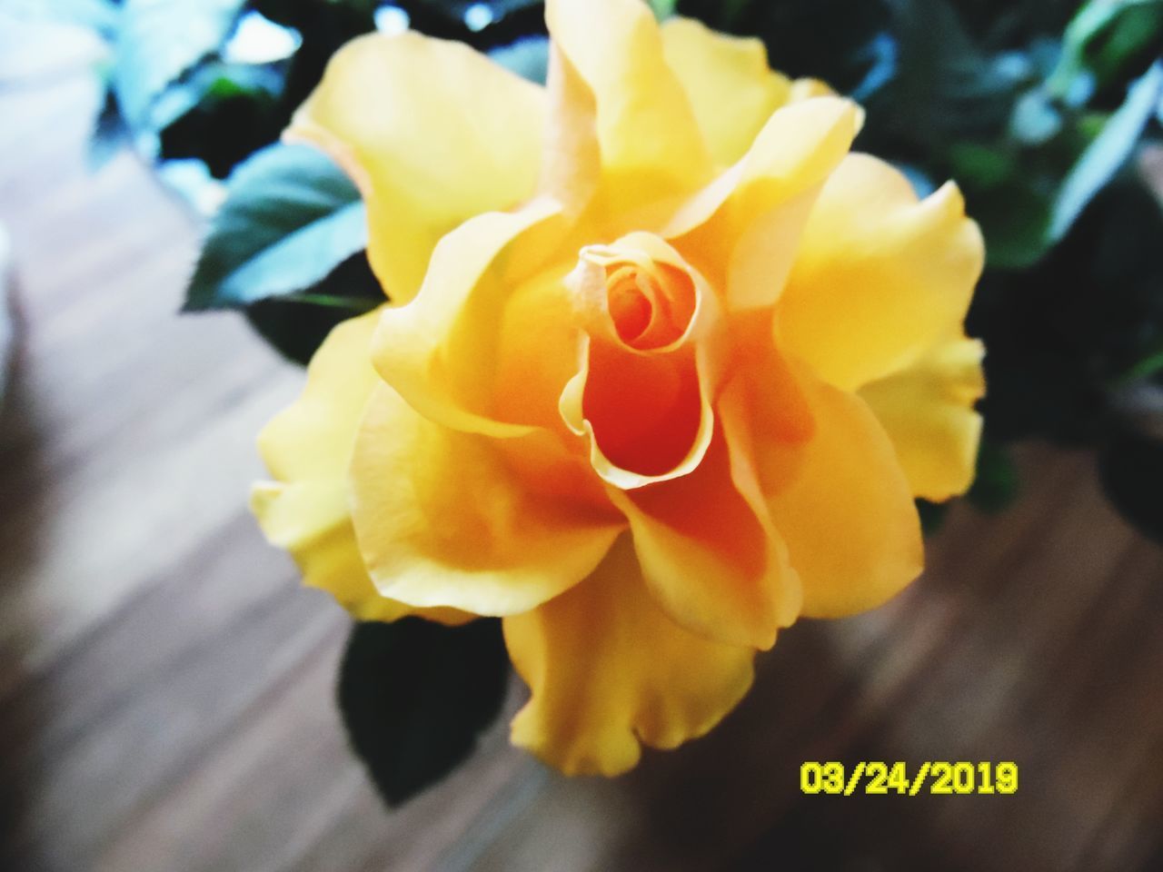
[[[1163,97],[1163,60],[1157,60],[1127,92],[1119,110],[1073,165],[1055,199],[1048,237],[1057,242],[1073,226],[1086,203],[1127,162],[1143,128]]]

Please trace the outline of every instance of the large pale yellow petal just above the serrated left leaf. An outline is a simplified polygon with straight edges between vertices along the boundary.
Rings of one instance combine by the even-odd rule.
[[[543,126],[542,88],[461,43],[405,33],[336,52],[287,135],[322,146],[359,185],[372,267],[404,302],[445,233],[533,193]]]

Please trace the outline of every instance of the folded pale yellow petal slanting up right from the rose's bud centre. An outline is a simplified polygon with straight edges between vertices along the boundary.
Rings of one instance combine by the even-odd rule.
[[[733,309],[778,299],[821,186],[856,135],[850,100],[776,110],[750,151],[665,222],[662,235],[722,288]]]

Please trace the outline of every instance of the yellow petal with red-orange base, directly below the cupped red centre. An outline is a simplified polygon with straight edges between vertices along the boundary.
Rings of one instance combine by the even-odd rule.
[[[663,610],[718,642],[770,648],[800,606],[787,563],[745,458],[716,428],[702,463],[683,478],[611,488],[626,513],[643,577]]]

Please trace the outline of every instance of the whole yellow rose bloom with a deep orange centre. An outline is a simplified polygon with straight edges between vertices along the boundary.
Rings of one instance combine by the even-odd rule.
[[[254,506],[357,617],[501,616],[513,741],[614,774],[709,730],[779,628],[919,574],[913,498],[972,477],[983,244],[757,41],[637,0],[547,19],[545,88],[369,36],[295,116],[392,302],[263,431]]]

